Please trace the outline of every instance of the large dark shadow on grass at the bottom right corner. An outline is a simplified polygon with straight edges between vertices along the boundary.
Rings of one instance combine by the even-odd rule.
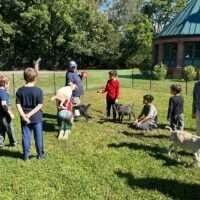
[[[126,183],[135,190],[136,188],[143,190],[159,191],[170,199],[200,199],[200,185],[192,183],[184,183],[178,180],[162,179],[162,178],[135,178],[130,172],[122,172],[120,170],[114,172],[120,179],[124,179]]]

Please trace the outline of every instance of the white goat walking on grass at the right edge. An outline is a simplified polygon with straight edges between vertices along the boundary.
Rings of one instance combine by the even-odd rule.
[[[171,150],[174,150],[176,154],[176,160],[180,161],[177,153],[177,147],[180,147],[187,152],[193,153],[195,160],[198,163],[198,167],[200,167],[200,137],[192,135],[186,131],[173,131],[169,126],[165,126],[165,128],[171,131],[172,139],[172,144],[169,146],[168,155],[170,156]]]

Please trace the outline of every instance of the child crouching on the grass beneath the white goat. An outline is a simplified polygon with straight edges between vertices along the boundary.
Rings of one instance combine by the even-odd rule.
[[[73,113],[72,113],[72,102],[67,101],[64,106],[57,102],[58,108],[58,125],[59,125],[59,140],[67,140],[68,136],[71,134],[72,124],[73,124]]]

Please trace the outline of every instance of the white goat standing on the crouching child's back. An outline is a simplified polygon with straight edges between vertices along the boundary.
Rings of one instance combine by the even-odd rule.
[[[69,101],[72,96],[72,91],[75,90],[77,86],[73,83],[69,83],[68,86],[62,87],[56,91],[56,95],[51,98],[51,100],[57,99],[61,101],[60,105],[63,105],[65,101]]]

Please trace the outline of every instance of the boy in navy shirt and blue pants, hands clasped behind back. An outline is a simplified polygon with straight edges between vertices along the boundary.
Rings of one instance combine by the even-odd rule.
[[[43,150],[42,136],[42,104],[43,92],[35,87],[38,74],[33,68],[24,70],[26,84],[18,89],[16,93],[16,104],[21,116],[22,146],[24,160],[30,158],[31,131],[34,132],[37,159],[46,158]]]

